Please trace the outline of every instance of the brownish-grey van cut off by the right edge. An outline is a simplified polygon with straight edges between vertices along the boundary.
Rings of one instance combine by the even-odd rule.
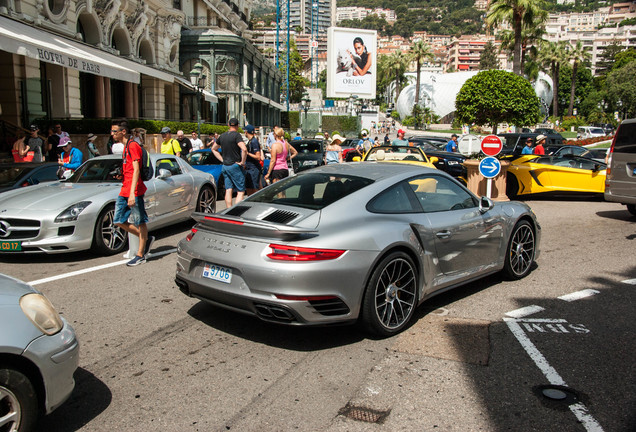
[[[636,119],[616,131],[607,161],[605,200],[619,202],[636,216]]]

